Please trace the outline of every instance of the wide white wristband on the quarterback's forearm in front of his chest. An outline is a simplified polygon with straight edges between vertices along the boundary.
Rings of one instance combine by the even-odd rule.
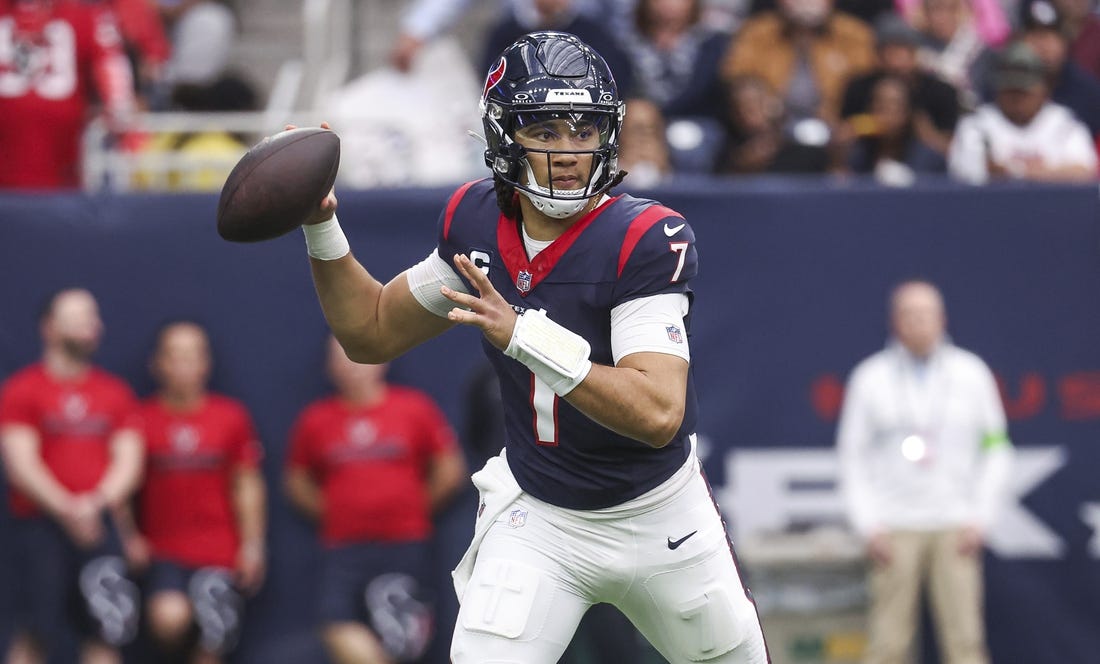
[[[591,353],[587,340],[553,322],[541,309],[519,314],[504,350],[505,355],[524,363],[559,397],[573,391],[592,370]]]

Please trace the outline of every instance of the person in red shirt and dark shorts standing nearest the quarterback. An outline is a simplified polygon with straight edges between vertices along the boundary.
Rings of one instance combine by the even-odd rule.
[[[329,339],[337,395],[309,405],[290,435],[285,486],[320,522],[326,650],[339,664],[413,661],[431,638],[431,514],[466,478],[454,432],[427,395],[386,383]]]

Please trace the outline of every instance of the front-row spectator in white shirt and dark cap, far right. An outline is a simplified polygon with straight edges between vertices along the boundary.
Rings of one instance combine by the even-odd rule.
[[[996,101],[959,122],[948,154],[952,175],[974,184],[1096,179],[1089,130],[1069,109],[1050,101],[1046,67],[1030,46],[1015,43],[1004,49],[993,86]]]

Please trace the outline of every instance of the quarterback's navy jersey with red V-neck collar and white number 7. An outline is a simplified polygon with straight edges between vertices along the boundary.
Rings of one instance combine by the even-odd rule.
[[[612,309],[666,292],[690,299],[697,269],[694,234],[683,218],[630,196],[605,201],[528,261],[519,224],[501,213],[488,179],[461,187],[440,218],[439,255],[451,262],[455,254],[470,256],[517,311],[544,309],[586,339],[592,362],[604,365],[614,364]],[[483,345],[501,377],[508,465],[531,496],[570,509],[606,508],[661,484],[686,458],[696,419],[691,376],[680,431],[653,449],[597,424],[525,365],[484,339]]]

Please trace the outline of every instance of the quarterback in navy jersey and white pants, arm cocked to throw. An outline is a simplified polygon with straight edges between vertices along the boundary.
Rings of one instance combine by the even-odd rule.
[[[304,228],[349,357],[474,325],[501,378],[507,440],[473,476],[452,662],[552,664],[598,602],[670,662],[770,661],[694,450],[694,234],[610,195],[626,175],[612,73],[573,35],[531,33],[488,71],[481,110],[492,178],[454,192],[421,263],[371,276],[334,195]]]

